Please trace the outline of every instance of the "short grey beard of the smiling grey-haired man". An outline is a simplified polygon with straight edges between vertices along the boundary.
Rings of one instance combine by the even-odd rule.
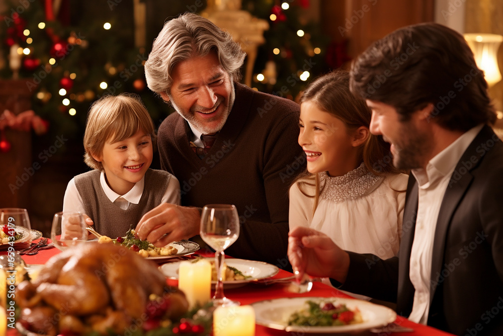
[[[227,104],[225,104],[225,98],[219,97],[217,99],[215,105],[213,105],[213,107],[210,109],[204,108],[199,105],[194,105],[190,108],[190,111],[182,110],[181,108],[179,108],[177,106],[177,104],[173,100],[173,97],[171,95],[169,95],[169,97],[170,97],[170,102],[171,102],[171,105],[173,106],[173,108],[178,112],[178,114],[180,114],[185,120],[187,120],[187,122],[189,122],[193,127],[198,129],[203,134],[213,134],[213,133],[220,131],[222,129],[223,125],[225,124],[225,122],[227,121],[227,118],[230,114],[230,110],[232,109],[232,106],[234,105],[235,89],[234,89],[234,85],[231,85],[231,92],[230,92],[229,101],[227,102]],[[224,104],[224,105],[222,105],[222,104]],[[222,106],[220,106],[220,105],[222,105]],[[212,110],[213,108],[215,108],[215,106],[218,106],[217,108],[224,108],[225,109],[224,111],[221,112],[222,113],[221,115],[217,116],[218,118],[221,118],[221,120],[216,126],[210,127],[207,122],[201,121],[196,117],[196,111]],[[211,119],[209,121],[211,121]]]

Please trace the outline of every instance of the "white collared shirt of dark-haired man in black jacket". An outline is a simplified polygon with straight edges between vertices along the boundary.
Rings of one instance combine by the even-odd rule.
[[[427,324],[430,311],[433,242],[442,199],[461,156],[482,129],[478,125],[463,133],[428,162],[425,169],[412,169],[418,184],[418,207],[414,241],[410,252],[409,277],[414,286],[414,302],[409,320]],[[435,256],[441,257],[441,256]]]

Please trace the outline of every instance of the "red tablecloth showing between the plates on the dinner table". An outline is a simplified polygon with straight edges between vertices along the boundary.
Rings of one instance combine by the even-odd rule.
[[[47,260],[49,260],[50,257],[53,255],[58,254],[60,251],[56,248],[51,248],[48,250],[42,250],[36,255],[24,255],[23,259],[26,261],[28,264],[43,264]],[[209,256],[209,253],[207,251],[198,251],[198,253],[201,253],[204,256]],[[278,275],[275,276],[275,278],[283,278],[283,277],[288,277],[291,276],[292,274],[286,271],[280,270]],[[171,285],[177,285],[176,281],[169,280],[169,284]],[[275,284],[275,285],[269,285],[269,286],[264,286],[264,285],[258,285],[258,284],[248,284],[244,287],[240,288],[235,288],[235,289],[225,289],[225,296],[228,297],[229,299],[239,301],[241,305],[246,305],[250,304],[253,302],[257,301],[262,301],[262,300],[269,300],[269,299],[275,299],[275,298],[281,298],[281,297],[302,297],[302,296],[314,296],[314,297],[348,297],[345,293],[332,288],[330,286],[327,286],[325,284],[319,283],[319,282],[314,282],[313,283],[313,288],[309,293],[304,293],[304,294],[293,294],[290,293],[286,290],[286,287],[281,284]],[[413,332],[393,332],[393,335],[396,336],[443,336],[443,335],[451,335],[450,333],[446,333],[443,331],[440,331],[438,329],[428,327],[422,324],[416,324],[414,322],[411,322],[407,320],[406,318],[403,318],[401,316],[398,316],[396,321],[396,324],[412,328],[414,331]],[[288,333],[285,331],[281,330],[275,330],[271,328],[267,328],[261,325],[256,326],[256,335],[270,335],[270,336],[281,336],[281,335],[293,335],[292,333]],[[375,333],[370,333],[371,335],[376,335]],[[382,333],[384,334],[389,334],[389,333]],[[378,334],[380,335],[380,334]],[[7,336],[17,336],[14,330],[8,330]]]

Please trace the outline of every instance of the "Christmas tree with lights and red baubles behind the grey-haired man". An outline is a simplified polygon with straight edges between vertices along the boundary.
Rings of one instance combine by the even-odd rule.
[[[198,12],[206,8],[201,3]],[[28,80],[33,109],[53,132],[48,138],[63,133],[81,139],[90,105],[104,94],[138,93],[156,125],[172,111],[146,88],[143,64],[150,45],[133,43],[132,2],[71,2],[71,11],[67,0],[6,0],[6,5],[1,51],[18,53],[20,66],[13,71],[6,62],[0,77]],[[295,99],[309,80],[329,70],[328,38],[316,23],[302,19],[309,6],[309,0],[242,1],[243,10],[270,26],[254,65],[254,88]]]

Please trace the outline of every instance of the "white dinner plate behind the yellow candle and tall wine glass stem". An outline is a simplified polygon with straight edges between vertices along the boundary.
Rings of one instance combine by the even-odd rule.
[[[214,258],[207,259],[213,260]],[[178,268],[180,267],[180,262],[182,261],[165,263],[160,266],[159,269],[166,277],[178,279]],[[245,280],[224,281],[223,285],[225,288],[244,286],[252,281],[274,277],[279,272],[279,268],[277,266],[263,261],[228,258],[225,259],[225,263],[231,267],[237,268],[237,270],[241,271],[244,276],[250,277]],[[215,281],[212,281],[213,285],[215,283]]]

